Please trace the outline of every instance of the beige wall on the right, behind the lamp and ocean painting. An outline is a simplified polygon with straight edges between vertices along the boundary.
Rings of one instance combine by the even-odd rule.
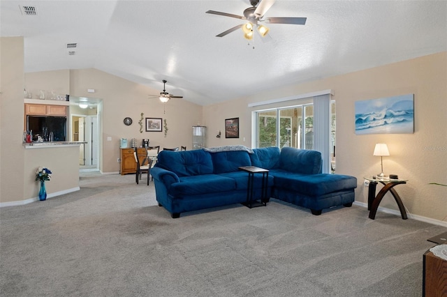
[[[204,107],[204,123],[210,127],[209,145],[251,144],[249,102],[332,89],[337,101],[337,173],[358,178],[356,201],[366,202],[363,176],[380,172],[380,158],[374,157],[374,144],[388,144],[390,157],[383,158],[387,174],[408,178],[398,185],[409,213],[447,222],[447,188],[429,185],[447,184],[447,53],[423,56],[347,75],[329,77],[279,90],[264,91],[244,98]],[[356,135],[354,103],[413,93],[415,132],[413,134]],[[260,108],[266,108],[263,105]],[[226,118],[240,117],[240,139],[217,139]],[[243,138],[246,137],[245,142]],[[392,196],[381,206],[397,210]]]

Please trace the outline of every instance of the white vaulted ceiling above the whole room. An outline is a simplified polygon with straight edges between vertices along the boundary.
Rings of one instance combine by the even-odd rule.
[[[21,6],[37,15],[22,15]],[[96,68],[199,105],[447,50],[447,1],[283,1],[267,43],[247,45],[249,0],[0,1],[1,36],[24,36],[25,72]],[[69,56],[67,43],[78,43]],[[92,86],[93,88],[94,86]]]

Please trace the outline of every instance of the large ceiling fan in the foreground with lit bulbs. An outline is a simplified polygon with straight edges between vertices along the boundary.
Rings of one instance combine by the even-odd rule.
[[[211,13],[212,15],[223,15],[224,17],[235,17],[236,19],[248,21],[245,24],[233,26],[233,28],[223,31],[216,37],[226,36],[228,33],[242,28],[242,31],[244,31],[244,37],[251,40],[254,36],[254,27],[257,27],[258,33],[262,37],[265,37],[267,36],[269,29],[267,26],[261,24],[261,22],[266,22],[268,24],[306,24],[307,17],[266,17],[263,19],[263,16],[267,13],[267,10],[272,7],[274,1],[276,0],[250,0],[252,7],[244,10],[244,16],[233,15],[231,13],[221,13],[220,11],[214,10],[208,10],[206,13]]]

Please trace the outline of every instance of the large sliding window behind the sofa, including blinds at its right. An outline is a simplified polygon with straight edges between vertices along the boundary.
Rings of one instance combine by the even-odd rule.
[[[306,103],[254,112],[256,147],[278,146],[282,148],[291,146],[302,149],[316,149],[321,151],[323,162],[327,163],[326,167],[323,166],[323,172],[335,172],[335,100],[330,101],[330,106],[327,108],[324,107],[324,104],[323,98],[323,107],[319,107],[321,103],[318,102],[317,110],[314,110],[314,103]],[[314,130],[314,112],[318,112],[318,110],[325,114],[317,117],[319,125],[323,127],[318,128],[318,131],[323,129],[323,132]],[[326,116],[327,121],[324,120]],[[321,139],[318,140],[317,138],[320,142],[317,146],[320,147],[316,147],[314,145],[314,132],[318,133],[318,135],[315,135],[316,137],[328,137],[329,139],[325,139],[321,144]],[[321,149],[322,145],[328,147]],[[325,156],[323,156],[323,153]]]

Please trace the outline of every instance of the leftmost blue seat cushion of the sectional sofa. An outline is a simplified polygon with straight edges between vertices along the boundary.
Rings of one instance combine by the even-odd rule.
[[[217,174],[203,174],[200,176],[183,176],[179,183],[173,183],[168,194],[173,197],[199,195],[214,192],[235,190],[236,182],[233,178]]]

